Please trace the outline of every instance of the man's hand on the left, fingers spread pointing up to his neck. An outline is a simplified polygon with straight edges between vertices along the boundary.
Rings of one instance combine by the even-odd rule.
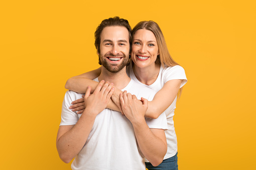
[[[85,110],[88,111],[87,113],[99,114],[102,112],[107,107],[113,92],[113,83],[106,82],[104,84],[104,80],[98,84],[93,94],[91,94],[91,87],[88,86],[84,95],[84,104],[86,106]]]

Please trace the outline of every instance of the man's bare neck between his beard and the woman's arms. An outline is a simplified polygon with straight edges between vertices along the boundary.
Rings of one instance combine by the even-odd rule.
[[[129,82],[130,77],[126,74],[126,67],[124,67],[122,70],[120,70],[117,73],[109,72],[105,67],[102,66],[102,71],[99,76],[99,82],[102,80],[109,81],[110,83],[114,83],[114,86],[118,89],[122,90],[125,88]]]

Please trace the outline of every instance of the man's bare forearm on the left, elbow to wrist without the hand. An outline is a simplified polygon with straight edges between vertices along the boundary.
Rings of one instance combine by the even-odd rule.
[[[86,114],[83,112],[77,123],[65,132],[65,127],[60,127],[57,137],[56,146],[60,158],[68,163],[79,153],[92,130],[96,115]],[[61,130],[62,129],[62,130]],[[63,130],[64,129],[64,130]]]

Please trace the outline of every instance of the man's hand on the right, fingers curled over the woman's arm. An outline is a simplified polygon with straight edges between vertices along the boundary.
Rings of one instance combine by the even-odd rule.
[[[145,119],[145,112],[147,110],[147,99],[141,97],[138,100],[135,95],[124,91],[120,94],[120,103],[124,115],[133,123]]]

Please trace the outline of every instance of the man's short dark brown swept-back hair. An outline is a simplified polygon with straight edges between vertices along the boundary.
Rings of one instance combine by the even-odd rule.
[[[132,42],[132,29],[131,26],[129,25],[129,22],[125,19],[120,19],[119,17],[114,17],[114,18],[109,18],[106,20],[103,20],[101,22],[101,24],[97,27],[96,32],[95,32],[95,47],[97,49],[97,52],[99,54],[99,64],[101,65],[101,61],[100,61],[100,54],[101,54],[101,49],[100,49],[100,45],[101,45],[101,33],[102,30],[105,27],[110,27],[110,26],[120,26],[120,27],[125,27],[128,32],[129,32],[129,45],[130,45],[130,50],[129,53],[131,52],[131,42]]]

